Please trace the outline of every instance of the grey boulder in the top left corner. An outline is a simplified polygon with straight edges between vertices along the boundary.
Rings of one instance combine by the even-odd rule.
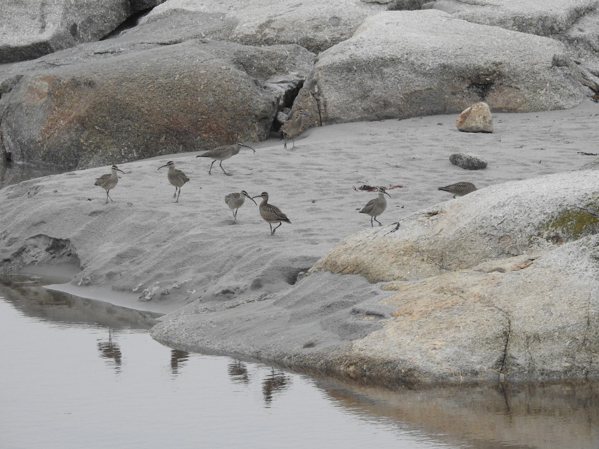
[[[164,0],[3,0],[0,63],[97,41],[129,16]]]

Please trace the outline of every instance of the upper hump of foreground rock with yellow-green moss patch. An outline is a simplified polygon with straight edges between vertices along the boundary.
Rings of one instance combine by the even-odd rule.
[[[566,172],[521,181],[518,189],[479,189],[422,211],[395,232],[383,227],[349,236],[316,268],[359,273],[373,282],[413,280],[549,250],[599,231],[596,181],[594,171]],[[523,192],[525,198],[518,198]]]

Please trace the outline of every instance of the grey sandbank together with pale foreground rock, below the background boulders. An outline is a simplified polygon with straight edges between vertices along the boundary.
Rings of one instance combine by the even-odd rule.
[[[252,145],[231,176],[170,156],[191,178],[179,202],[166,159],[120,165],[108,204],[93,183],[109,168],[25,181],[0,190],[0,269],[75,264],[71,293],[170,312],[152,336],[175,347],[426,383],[597,378],[597,171],[572,171],[596,114],[331,125]],[[486,168],[450,163],[464,149]],[[437,190],[464,179],[479,189]],[[382,227],[358,213],[362,183],[389,187]],[[241,189],[291,224],[271,236],[246,202],[233,225]]]

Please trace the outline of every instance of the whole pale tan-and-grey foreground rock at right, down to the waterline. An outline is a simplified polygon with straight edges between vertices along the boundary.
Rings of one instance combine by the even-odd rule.
[[[353,341],[343,366],[435,381],[597,377],[596,177],[482,189],[337,244],[313,270],[397,291],[382,301],[392,317]]]

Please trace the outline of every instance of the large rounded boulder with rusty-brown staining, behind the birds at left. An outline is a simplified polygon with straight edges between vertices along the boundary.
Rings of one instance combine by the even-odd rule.
[[[314,59],[298,45],[198,40],[111,53],[119,43],[0,74],[4,152],[69,169],[261,141]]]

